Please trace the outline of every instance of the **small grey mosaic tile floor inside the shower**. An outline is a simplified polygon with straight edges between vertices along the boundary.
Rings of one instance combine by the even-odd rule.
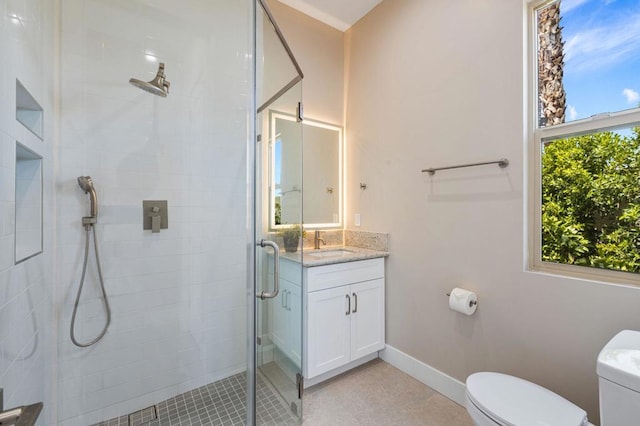
[[[155,420],[147,420],[150,415],[147,408],[143,410],[144,414],[116,417],[94,426],[244,425],[247,415],[246,386],[245,373],[236,374],[156,404]],[[258,424],[299,424],[275,390],[260,376],[256,386],[256,403]]]

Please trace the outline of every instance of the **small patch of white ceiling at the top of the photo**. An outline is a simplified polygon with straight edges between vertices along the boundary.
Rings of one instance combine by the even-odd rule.
[[[280,0],[305,15],[346,31],[382,0]]]

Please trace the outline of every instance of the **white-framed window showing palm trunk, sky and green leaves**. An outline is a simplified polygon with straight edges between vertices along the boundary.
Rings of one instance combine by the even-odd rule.
[[[530,12],[530,263],[640,284],[640,2]]]

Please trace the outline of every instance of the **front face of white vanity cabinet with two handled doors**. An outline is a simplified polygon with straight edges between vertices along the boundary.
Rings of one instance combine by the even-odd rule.
[[[384,348],[384,259],[305,268],[305,377]]]

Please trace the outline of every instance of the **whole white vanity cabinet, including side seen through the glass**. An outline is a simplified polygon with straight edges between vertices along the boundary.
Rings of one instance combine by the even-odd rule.
[[[281,257],[279,283],[269,336],[298,367],[304,350],[306,379],[324,380],[384,349],[384,258],[307,265],[301,274],[299,261]]]

